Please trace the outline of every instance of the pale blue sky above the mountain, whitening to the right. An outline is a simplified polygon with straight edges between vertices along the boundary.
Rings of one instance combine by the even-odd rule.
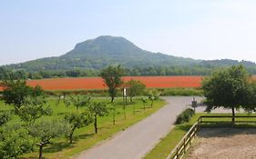
[[[194,59],[256,62],[255,0],[7,0],[0,65],[64,55],[99,35]]]

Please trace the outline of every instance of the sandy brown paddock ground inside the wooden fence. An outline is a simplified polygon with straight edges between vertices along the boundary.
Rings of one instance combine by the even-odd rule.
[[[186,159],[256,158],[256,129],[203,128]]]

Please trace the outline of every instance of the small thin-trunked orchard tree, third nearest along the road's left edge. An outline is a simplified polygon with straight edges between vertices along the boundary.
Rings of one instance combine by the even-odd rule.
[[[108,114],[107,104],[94,102],[88,105],[88,110],[93,115],[95,133],[97,134],[97,116],[105,116]]]

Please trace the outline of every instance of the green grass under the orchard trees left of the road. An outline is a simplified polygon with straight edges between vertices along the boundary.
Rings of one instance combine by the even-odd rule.
[[[108,98],[95,98],[94,101],[109,101]],[[118,133],[119,131],[123,131],[128,126],[132,124],[136,124],[145,117],[150,114],[153,114],[159,108],[161,108],[165,102],[164,101],[156,101],[153,107],[149,107],[147,105],[147,109],[143,110],[143,104],[138,99],[134,99],[133,103],[129,103],[127,105],[126,113],[127,119],[124,119],[123,114],[123,103],[122,99],[118,98],[116,101],[117,103],[117,123],[113,124],[113,115],[110,112],[108,116],[99,117],[98,118],[98,134],[94,134],[94,127],[93,124],[88,125],[87,127],[77,129],[74,134],[74,144],[69,144],[67,138],[61,137],[52,140],[53,144],[48,144],[44,147],[43,156],[46,159],[65,159],[75,154],[79,154],[82,151],[90,148],[91,146],[108,139],[109,137],[113,136],[114,134]],[[42,119],[55,119],[59,118],[59,114],[64,114],[67,112],[75,112],[77,111],[75,106],[65,106],[63,103],[57,104],[56,98],[49,99],[48,104],[52,107],[54,114],[52,116],[44,116]],[[135,106],[135,114],[133,114],[133,107]],[[12,109],[12,106],[5,105],[0,103],[0,110],[3,109]],[[15,116],[15,118],[10,121],[10,123],[19,122],[19,118]],[[23,158],[34,159],[38,158],[38,149],[34,153],[25,154]]]

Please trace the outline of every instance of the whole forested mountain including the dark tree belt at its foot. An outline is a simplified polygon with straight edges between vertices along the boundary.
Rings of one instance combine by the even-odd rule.
[[[16,65],[3,65],[0,78],[50,78],[97,76],[108,65],[121,65],[127,75],[209,75],[212,70],[230,65],[244,65],[256,74],[256,65],[247,61],[194,60],[139,48],[123,37],[99,36],[79,43],[58,57],[47,57]]]

